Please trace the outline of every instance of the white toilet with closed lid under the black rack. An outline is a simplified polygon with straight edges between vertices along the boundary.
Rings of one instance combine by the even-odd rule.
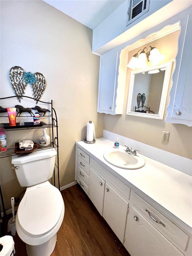
[[[60,191],[48,181],[53,176],[54,148],[12,156],[18,181],[27,187],[16,215],[16,230],[28,256],[50,256],[61,227],[65,206]]]

